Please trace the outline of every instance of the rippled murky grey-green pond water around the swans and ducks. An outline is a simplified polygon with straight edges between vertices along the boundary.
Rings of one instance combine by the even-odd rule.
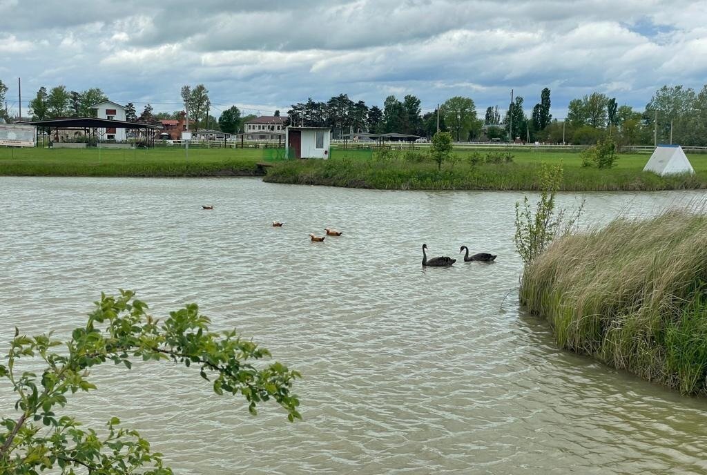
[[[98,391],[66,412],[98,428],[118,416],[177,474],[705,473],[705,399],[561,351],[519,307],[522,196],[0,177],[1,351],[15,326],[66,337],[101,291],[133,288],[158,317],[197,302],[303,373],[291,424],[276,404],[250,416],[193,368],[94,370]],[[586,199],[583,223],[605,223],[703,197],[559,201]],[[327,226],[344,234],[310,242]],[[423,270],[423,243],[498,259]],[[13,401],[2,387],[2,416]]]

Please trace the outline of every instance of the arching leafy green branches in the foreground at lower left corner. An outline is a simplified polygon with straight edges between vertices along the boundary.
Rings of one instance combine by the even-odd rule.
[[[128,370],[134,358],[194,366],[216,394],[242,395],[251,414],[257,414],[258,404],[273,400],[290,421],[301,419],[298,398],[291,394],[300,374],[277,362],[257,365],[257,360],[270,356],[267,349],[241,339],[235,330],[211,332],[210,323],[196,304],[161,321],[154,319],[134,292],[121,291],[117,298],[101,295],[86,325],[74,329],[65,344],[52,332],[30,337],[16,329],[0,377],[18,395],[15,407],[20,414],[2,419],[0,473],[37,474],[47,469],[62,474],[74,474],[75,469],[97,475],[173,473],[138,432],[119,428],[118,418],[108,421],[107,434],[101,436],[82,429],[71,416],[57,414],[71,394],[96,389],[88,371],[109,361]],[[55,352],[59,346],[62,351]],[[15,363],[20,359],[45,368],[19,374]]]

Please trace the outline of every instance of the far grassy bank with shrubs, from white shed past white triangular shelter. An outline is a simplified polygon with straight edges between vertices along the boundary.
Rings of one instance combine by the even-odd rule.
[[[644,173],[646,155],[621,155],[611,170],[582,168],[577,153],[513,152],[512,163],[485,163],[485,153],[474,163],[472,153],[457,152],[454,163],[441,170],[414,153],[369,160],[334,158],[293,160],[268,170],[267,182],[324,184],[335,187],[373,189],[539,189],[540,163],[564,165],[561,189],[566,191],[619,191],[707,188],[707,157],[690,156],[695,175],[658,177]]]

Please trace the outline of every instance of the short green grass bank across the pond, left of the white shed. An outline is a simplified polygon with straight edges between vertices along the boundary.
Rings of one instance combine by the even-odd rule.
[[[262,175],[259,149],[0,148],[0,175],[71,177],[205,177]]]

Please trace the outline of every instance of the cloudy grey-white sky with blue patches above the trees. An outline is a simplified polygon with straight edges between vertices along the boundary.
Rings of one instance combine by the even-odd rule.
[[[348,93],[368,105],[414,94],[553,112],[598,90],[644,107],[656,88],[707,83],[707,1],[0,0],[0,78],[17,107],[40,86],[180,109],[204,83],[215,114],[285,112]]]

